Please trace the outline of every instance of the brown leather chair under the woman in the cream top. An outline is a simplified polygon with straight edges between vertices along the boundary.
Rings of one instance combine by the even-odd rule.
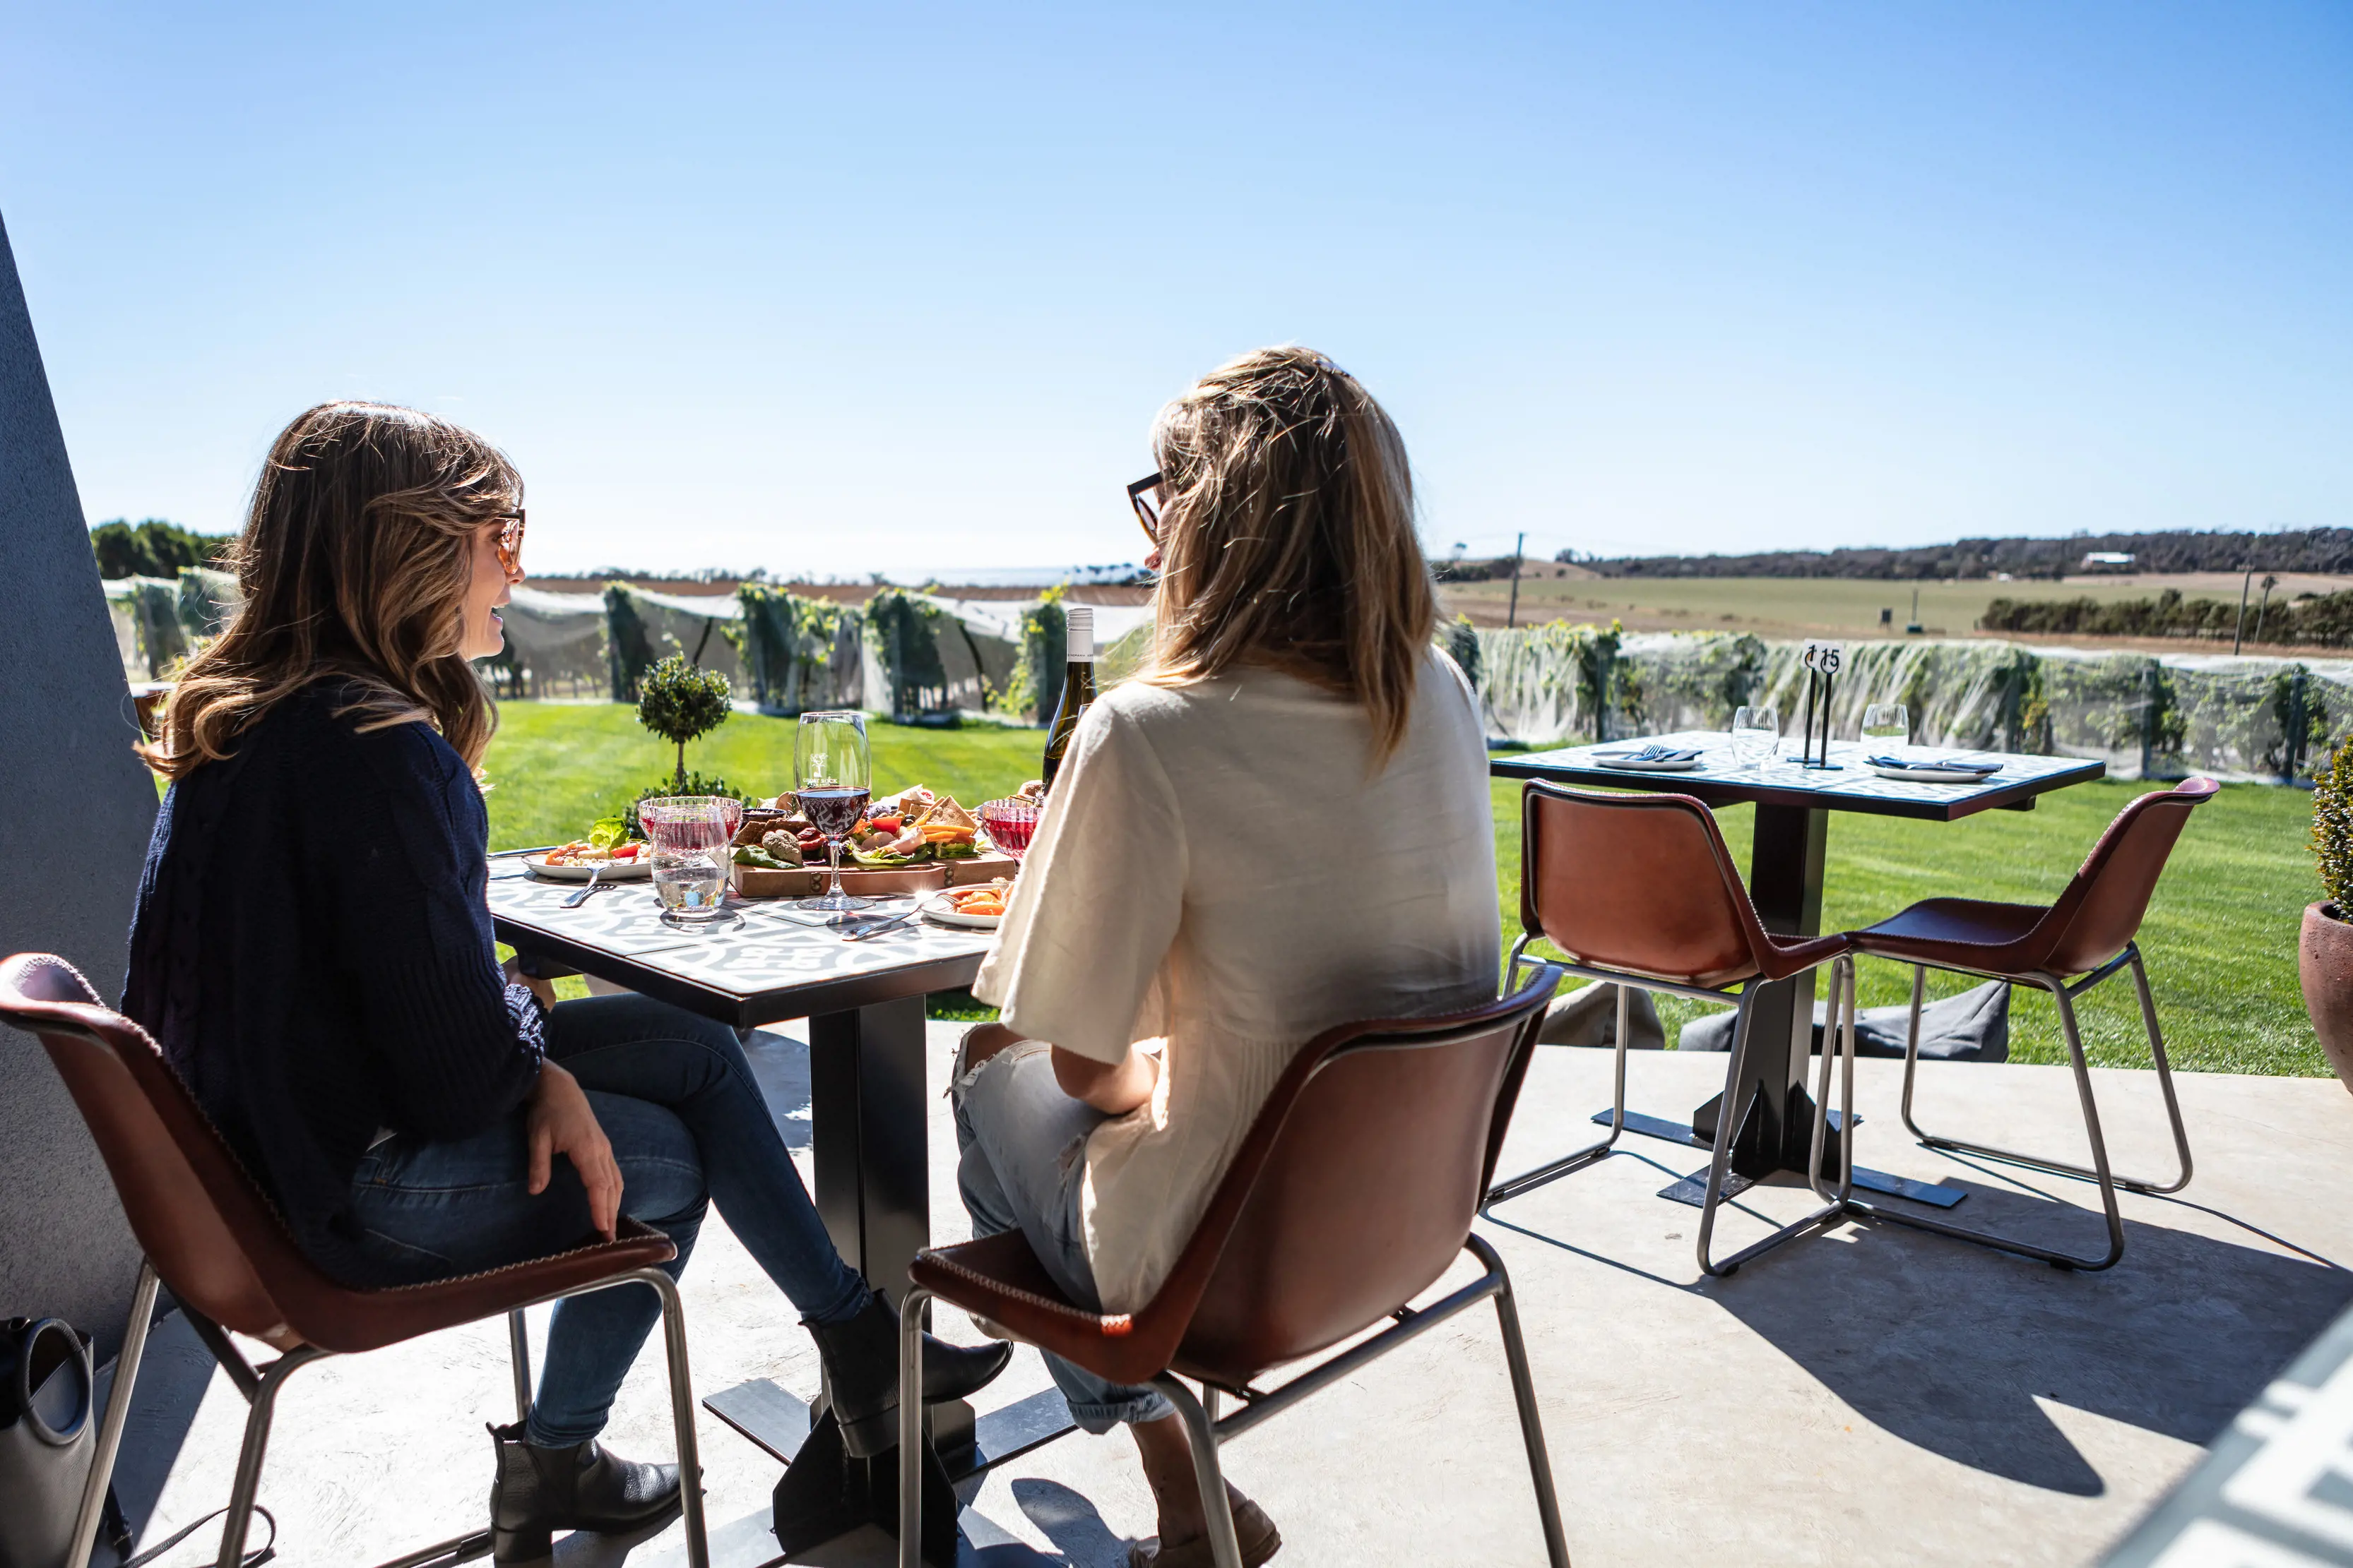
[[[936,1295],[1113,1382],[1148,1382],[1186,1422],[1212,1559],[1240,1568],[1217,1465],[1219,1439],[1247,1432],[1494,1298],[1544,1547],[1553,1568],[1567,1568],[1511,1279],[1494,1248],[1471,1234],[1544,1004],[1558,985],[1560,971],[1544,966],[1518,992],[1475,1013],[1348,1023],[1301,1046],[1176,1267],[1139,1312],[1073,1305],[1019,1229],[915,1253],[913,1291],[899,1314],[908,1326],[899,1340],[899,1375],[915,1366],[920,1307]],[[1485,1274],[1428,1307],[1409,1307],[1464,1251]],[[1282,1387],[1252,1387],[1264,1371],[1329,1349],[1381,1319],[1395,1324]],[[1200,1399],[1179,1373],[1202,1385]],[[1245,1401],[1226,1420],[1217,1420],[1219,1392]],[[920,1460],[920,1406],[911,1401],[899,1415],[904,1568],[915,1566],[922,1542]]]

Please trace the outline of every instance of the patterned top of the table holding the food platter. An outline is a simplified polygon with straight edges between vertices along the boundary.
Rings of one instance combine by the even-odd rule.
[[[727,1023],[772,1023],[833,1004],[922,994],[969,985],[988,952],[988,931],[934,926],[918,917],[896,931],[847,943],[821,914],[788,900],[729,900],[708,926],[661,919],[649,882],[626,882],[576,910],[572,882],[541,882],[513,856],[489,860],[489,914],[499,940],[548,952],[576,969]],[[913,910],[882,898],[873,914]]]

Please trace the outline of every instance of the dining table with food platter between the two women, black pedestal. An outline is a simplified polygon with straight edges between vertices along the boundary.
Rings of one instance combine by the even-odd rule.
[[[807,1020],[812,1197],[842,1260],[894,1302],[908,1262],[929,1244],[929,1107],[925,999],[972,985],[991,933],[918,912],[913,896],[875,900],[859,926],[795,900],[729,896],[708,922],[668,919],[647,882],[581,898],[576,882],[539,875],[534,851],[489,858],[489,917],[525,973],[586,973],[732,1025]],[[904,919],[889,929],[866,917]],[[856,940],[849,940],[856,936]],[[779,1312],[784,1312],[779,1300]],[[819,1394],[814,1406],[760,1380],[704,1401],[720,1420],[786,1462],[776,1481],[779,1549],[802,1556],[861,1526],[896,1530],[896,1453],[859,1460]],[[1059,1394],[974,1415],[965,1401],[929,1408],[925,1561],[955,1561],[953,1483],[1071,1429]]]

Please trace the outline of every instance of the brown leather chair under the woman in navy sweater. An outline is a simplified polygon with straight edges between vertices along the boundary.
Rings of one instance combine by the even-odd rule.
[[[609,1286],[645,1284],[661,1295],[661,1328],[671,1361],[671,1415],[678,1425],[678,1472],[687,1561],[708,1568],[704,1500],[694,1450],[694,1389],[687,1378],[687,1326],[678,1286],[656,1265],[678,1255],[659,1229],[621,1220],[614,1241],[576,1246],[553,1258],[534,1258],[504,1269],[438,1279],[393,1291],[351,1291],[327,1279],[294,1248],[261,1187],[245,1173],[155,1041],[120,1013],[108,1011],[89,980],[47,952],[19,952],[0,961],[0,1020],[38,1037],[73,1105],[115,1180],[132,1234],[146,1260],[132,1300],[129,1331],[115,1361],[115,1382],[99,1422],[96,1460],[82,1493],[68,1568],[89,1563],[99,1528],[99,1505],[113,1476],[132,1382],[146,1352],[158,1279],[188,1326],[221,1361],[252,1410],[245,1448],[221,1528],[221,1568],[238,1568],[261,1483],[261,1455],[271,1436],[278,1389],[301,1366],[322,1356],[381,1349],[438,1328],[456,1328],[485,1316],[508,1316],[515,1349],[515,1408],[529,1413],[529,1349],[522,1307]],[[256,1368],[228,1340],[235,1331],[280,1352]],[[489,1552],[489,1530],[475,1530],[398,1563],[466,1561]],[[386,1568],[395,1568],[388,1563]]]

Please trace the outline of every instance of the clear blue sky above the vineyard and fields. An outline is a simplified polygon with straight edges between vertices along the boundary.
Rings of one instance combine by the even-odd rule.
[[[353,395],[544,571],[1108,562],[1304,341],[1438,550],[2353,527],[2341,0],[0,0],[0,216],[92,520]]]

